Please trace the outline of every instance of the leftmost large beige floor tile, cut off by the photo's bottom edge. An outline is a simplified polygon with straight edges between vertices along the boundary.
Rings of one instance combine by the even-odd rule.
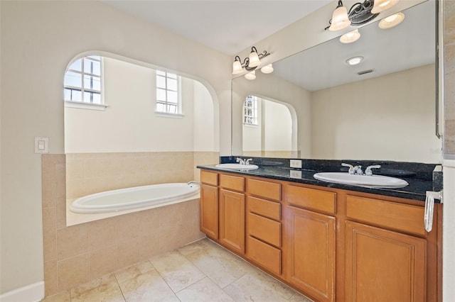
[[[124,302],[114,274],[90,281],[71,289],[71,302]]]

